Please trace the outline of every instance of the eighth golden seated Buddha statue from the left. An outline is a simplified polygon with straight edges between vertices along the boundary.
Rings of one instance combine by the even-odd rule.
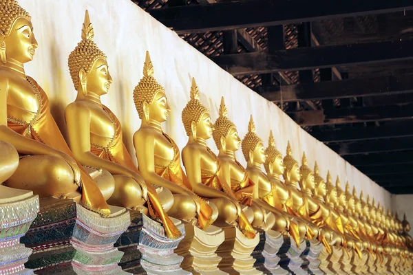
[[[299,164],[293,157],[293,149],[290,146],[290,142],[287,144],[287,153],[283,159],[284,162],[284,181],[286,189],[288,190],[288,199],[285,203],[288,213],[293,214],[296,217],[301,217],[306,221],[306,237],[307,239],[313,239],[319,236],[319,228],[314,225],[308,216],[308,201],[304,197],[304,194],[297,188],[298,182],[301,180],[301,173],[299,170]]]

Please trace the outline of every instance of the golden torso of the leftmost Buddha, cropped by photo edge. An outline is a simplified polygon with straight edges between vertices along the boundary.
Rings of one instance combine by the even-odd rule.
[[[42,104],[39,91],[28,80],[12,72],[0,70],[0,77],[8,79],[8,118],[23,123],[34,120]]]

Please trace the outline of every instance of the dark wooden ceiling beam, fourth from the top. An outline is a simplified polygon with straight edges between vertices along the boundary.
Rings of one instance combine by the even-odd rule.
[[[288,112],[300,126],[346,124],[369,121],[410,120],[413,103],[387,106],[335,108]]]

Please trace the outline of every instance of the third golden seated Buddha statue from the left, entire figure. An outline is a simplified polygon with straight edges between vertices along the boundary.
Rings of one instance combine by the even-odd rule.
[[[162,122],[168,117],[169,105],[165,89],[153,77],[149,52],[143,66],[143,78],[134,89],[134,102],[142,124],[134,133],[134,146],[138,169],[151,184],[171,190],[173,205],[171,217],[189,221],[207,228],[218,217],[213,203],[207,203],[193,192],[193,188],[180,164],[180,151],[176,143],[162,131]],[[214,211],[213,211],[213,207]]]

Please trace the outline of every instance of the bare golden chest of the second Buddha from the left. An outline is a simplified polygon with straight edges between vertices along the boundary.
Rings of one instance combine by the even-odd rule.
[[[100,107],[90,108],[90,132],[100,137],[112,139],[115,135],[114,118]],[[91,139],[93,139],[93,135]]]

